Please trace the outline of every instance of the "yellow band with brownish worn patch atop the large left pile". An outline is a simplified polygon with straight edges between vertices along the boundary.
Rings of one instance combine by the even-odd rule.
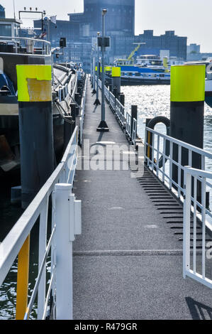
[[[16,71],[19,102],[52,100],[51,65],[16,65]]]

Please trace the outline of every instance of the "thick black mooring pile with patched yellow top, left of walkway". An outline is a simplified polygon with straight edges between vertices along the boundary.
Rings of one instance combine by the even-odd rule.
[[[17,65],[22,208],[54,170],[51,65]]]

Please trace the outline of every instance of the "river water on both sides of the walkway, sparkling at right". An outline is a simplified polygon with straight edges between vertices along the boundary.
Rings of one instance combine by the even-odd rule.
[[[170,110],[170,86],[125,86],[121,91],[125,94],[125,107],[130,112],[131,104],[138,105],[138,134],[144,139],[145,119],[155,116],[169,118]],[[158,125],[157,130],[164,132],[164,126]],[[204,122],[204,149],[212,153],[212,109],[205,106]],[[206,161],[206,168],[212,170],[212,161]],[[0,190],[0,242],[6,233],[20,217],[22,210],[10,204],[10,191],[6,188]],[[34,237],[33,237],[34,235]],[[29,295],[35,283],[38,273],[38,244],[36,242],[38,226],[34,227],[31,237],[31,261],[30,261],[30,285]],[[50,269],[50,268],[49,268]],[[4,284],[0,287],[0,320],[14,319],[16,309],[16,279],[17,260],[14,262]]]

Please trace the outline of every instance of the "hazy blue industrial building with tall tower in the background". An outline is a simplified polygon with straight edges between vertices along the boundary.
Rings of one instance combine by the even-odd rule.
[[[67,38],[67,48],[62,61],[81,62],[89,70],[91,63],[91,47],[96,42],[96,34],[101,32],[101,11],[107,9],[106,34],[111,37],[111,46],[107,50],[107,63],[114,58],[130,55],[135,48],[133,43],[145,43],[139,54],[157,54],[160,50],[169,50],[169,55],[186,60],[186,37],[179,37],[174,31],[166,31],[164,35],[154,36],[152,30],[135,36],[135,0],[84,0],[82,13],[68,14],[69,21],[45,23],[48,40],[52,46],[58,46],[61,37]],[[35,28],[41,26],[35,21]]]

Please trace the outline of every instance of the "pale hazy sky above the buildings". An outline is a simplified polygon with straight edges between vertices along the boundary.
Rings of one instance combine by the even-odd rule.
[[[114,0],[115,1],[115,0]],[[13,0],[0,0],[6,16],[13,17]],[[48,15],[68,19],[67,13],[83,11],[83,0],[15,0],[18,10],[26,6],[45,9]],[[135,0],[135,33],[153,29],[155,35],[174,30],[188,43],[201,44],[201,52],[212,52],[212,0]]]

